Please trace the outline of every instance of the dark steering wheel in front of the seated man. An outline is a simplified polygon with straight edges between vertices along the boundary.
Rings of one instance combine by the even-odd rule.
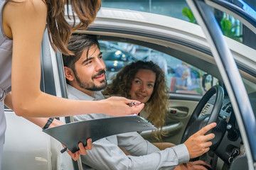
[[[216,98],[213,110],[210,113],[210,118],[209,115],[202,115],[198,118],[201,111],[203,110],[203,107],[214,94],[216,94]],[[222,107],[223,103],[223,96],[224,91],[221,86],[213,86],[206,92],[206,94],[203,96],[203,98],[201,98],[195,110],[193,111],[191,118],[188,120],[188,124],[181,138],[181,143],[185,142],[188,139],[188,137],[196,133],[198,130],[201,130],[201,128],[203,128],[204,126],[209,125],[210,123],[216,122],[218,120],[220,108]]]

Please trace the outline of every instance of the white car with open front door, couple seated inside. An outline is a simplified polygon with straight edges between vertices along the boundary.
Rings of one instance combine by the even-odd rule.
[[[200,26],[153,13],[101,8],[96,21],[77,33],[98,35],[100,42],[118,47],[134,45],[138,53],[133,55],[140,60],[146,56],[146,60],[156,61],[156,54],[164,59],[170,87],[164,126],[168,135],[163,137],[164,142],[179,144],[198,130],[195,122],[206,125],[208,120],[217,121],[214,145],[208,154],[198,159],[209,162],[216,170],[256,169],[256,50],[223,37],[209,6],[238,17],[256,33],[253,10],[250,13],[222,0],[188,0],[188,5]],[[50,47],[47,33],[41,56],[41,90],[66,98],[62,58]],[[196,87],[185,91],[174,88],[178,81],[176,67],[184,62],[196,74]],[[115,73],[110,70],[107,74]],[[215,84],[222,88],[213,87],[206,93],[206,89]],[[2,169],[82,169],[80,160],[73,162],[68,154],[60,154],[60,143],[41,128],[7,108],[5,113],[7,129]],[[60,120],[69,123],[72,118]],[[142,132],[142,136],[154,140],[151,132]]]

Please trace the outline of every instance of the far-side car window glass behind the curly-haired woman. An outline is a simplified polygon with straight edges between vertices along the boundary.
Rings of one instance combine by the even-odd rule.
[[[99,42],[108,82],[112,81],[112,77],[125,65],[137,60],[151,60],[163,70],[171,93],[202,95],[209,86],[218,84],[218,80],[213,77],[206,77],[203,87],[202,79],[206,72],[163,52],[125,42]]]

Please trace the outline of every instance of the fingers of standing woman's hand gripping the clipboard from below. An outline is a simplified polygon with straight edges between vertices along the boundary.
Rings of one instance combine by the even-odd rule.
[[[65,146],[63,145],[63,147]],[[80,154],[85,155],[87,154],[87,150],[92,149],[92,139],[87,140],[87,145],[85,147],[82,145],[82,142],[78,144],[78,147],[79,150],[75,153],[72,153],[70,150],[67,150],[68,154],[70,155],[70,157],[72,157],[72,159],[74,159],[74,161],[77,161],[79,159]]]

